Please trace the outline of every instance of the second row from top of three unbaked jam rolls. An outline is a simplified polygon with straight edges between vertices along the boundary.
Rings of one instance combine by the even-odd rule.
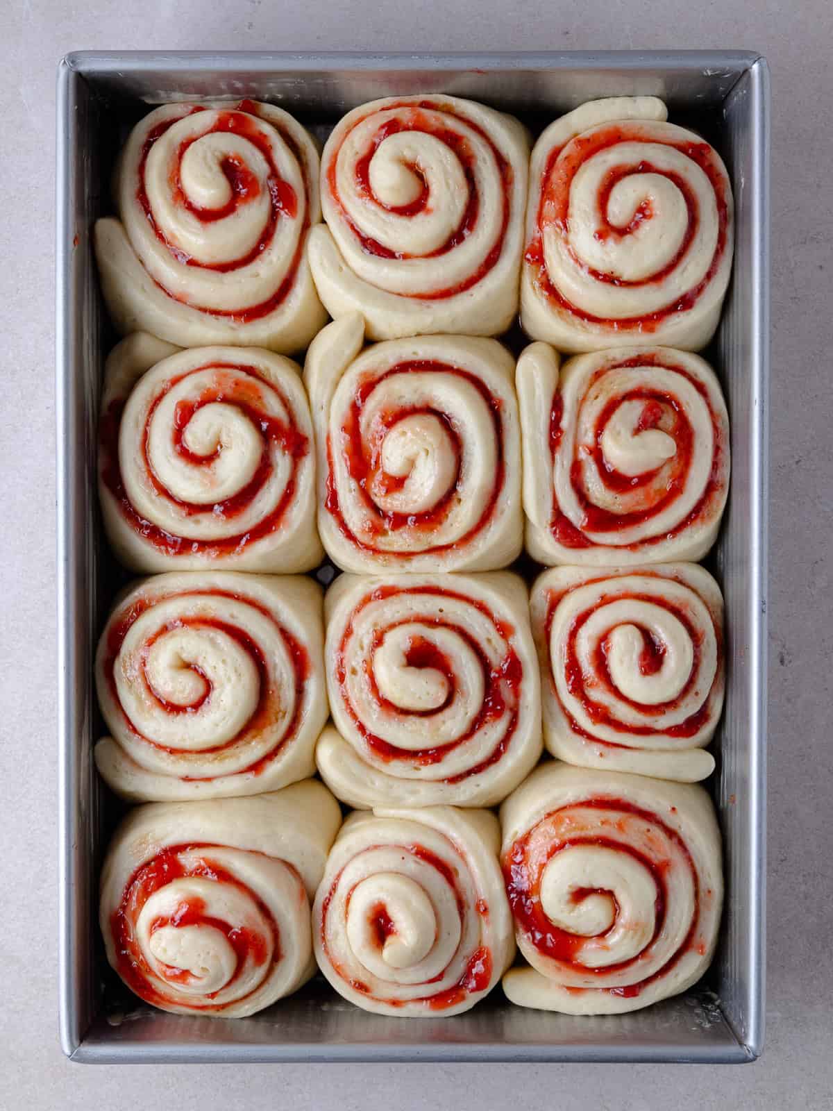
[[[489,571],[701,559],[729,489],[729,419],[699,356],[616,348],[518,363],[496,340],[363,348],[358,313],[303,376],[260,348],[108,361],[99,492],[136,571]]]

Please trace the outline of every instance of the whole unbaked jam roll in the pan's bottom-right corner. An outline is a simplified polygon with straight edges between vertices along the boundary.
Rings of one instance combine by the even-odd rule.
[[[720,831],[702,787],[569,764],[501,807],[518,947],[511,1002],[622,1014],[685,991],[711,963],[723,902]]]

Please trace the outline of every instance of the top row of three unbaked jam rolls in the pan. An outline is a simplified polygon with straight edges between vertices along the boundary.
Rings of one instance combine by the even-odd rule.
[[[732,191],[666,116],[653,97],[590,101],[530,154],[518,120],[483,104],[387,98],[348,112],[319,159],[274,106],[158,108],[96,227],[111,317],[291,354],[324,310],[360,311],[373,339],[496,336],[520,299],[528,333],[563,351],[700,350],[729,282]]]

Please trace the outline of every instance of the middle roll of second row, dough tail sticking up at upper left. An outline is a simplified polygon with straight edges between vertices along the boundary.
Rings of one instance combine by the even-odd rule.
[[[304,366],[328,556],[363,573],[506,567],[523,531],[514,360],[490,339],[363,338],[342,317]]]

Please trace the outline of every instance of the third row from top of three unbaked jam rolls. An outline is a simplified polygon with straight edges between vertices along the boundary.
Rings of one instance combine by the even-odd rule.
[[[495,805],[543,744],[696,781],[723,603],[689,563],[554,568],[531,599],[509,572],[344,574],[323,602],[303,578],[172,572],[117,600],[96,682],[96,760],[131,801],[260,794],[318,765],[354,808]]]

